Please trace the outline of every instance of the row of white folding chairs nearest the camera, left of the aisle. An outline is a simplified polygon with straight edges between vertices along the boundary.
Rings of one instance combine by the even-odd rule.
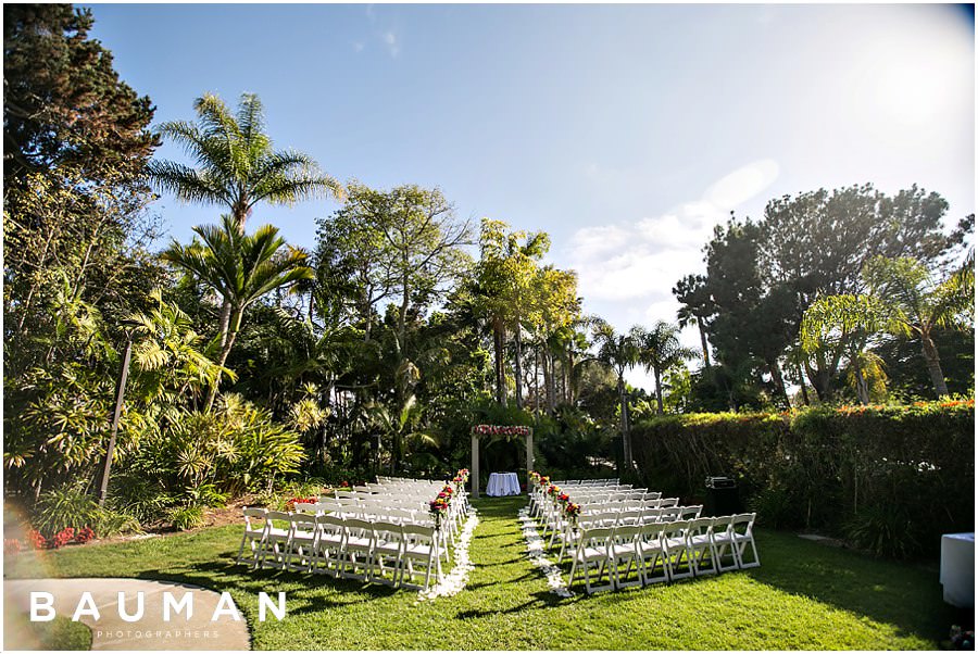
[[[259,527],[255,521],[263,519]],[[430,575],[441,575],[441,546],[434,525],[394,524],[333,515],[244,510],[242,558],[250,545],[253,567],[328,574],[391,586],[427,588]],[[275,525],[285,521],[287,528]],[[419,569],[415,569],[415,564]],[[424,573],[424,586],[415,578]],[[406,576],[406,581],[404,577]]]

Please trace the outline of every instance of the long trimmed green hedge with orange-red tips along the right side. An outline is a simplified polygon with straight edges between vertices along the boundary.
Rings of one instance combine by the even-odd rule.
[[[702,502],[707,476],[734,477],[762,523],[880,555],[933,555],[975,526],[974,400],[663,416],[632,443],[649,488]]]

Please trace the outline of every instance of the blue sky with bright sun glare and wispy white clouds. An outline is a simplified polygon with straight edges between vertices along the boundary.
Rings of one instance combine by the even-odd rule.
[[[462,217],[549,231],[549,261],[619,329],[675,320],[669,289],[731,210],[872,181],[940,192],[949,223],[975,211],[960,7],[91,7],[158,122],[191,120],[204,91],[256,92],[276,147],[340,180],[438,186]],[[251,224],[312,246],[336,207],[259,207]],[[220,213],[156,209],[179,240]]]

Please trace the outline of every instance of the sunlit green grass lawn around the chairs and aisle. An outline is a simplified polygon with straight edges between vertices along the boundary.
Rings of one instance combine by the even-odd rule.
[[[954,621],[936,569],[874,561],[761,530],[762,566],[606,592],[552,594],[525,551],[525,498],[476,501],[475,570],[454,598],[233,563],[237,526],[8,559],[8,577],[140,577],[229,591],[261,650],[937,649]],[[555,556],[551,556],[554,559]],[[286,591],[258,621],[259,591]]]

